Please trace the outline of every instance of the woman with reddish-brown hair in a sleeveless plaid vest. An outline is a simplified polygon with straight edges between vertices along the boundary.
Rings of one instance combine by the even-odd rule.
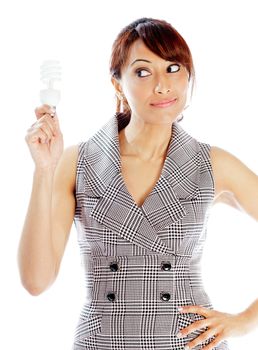
[[[38,295],[55,281],[74,220],[88,300],[73,349],[228,349],[226,338],[257,326],[258,300],[238,314],[213,309],[200,273],[206,224],[218,201],[258,220],[258,177],[180,126],[194,67],[169,23],[125,27],[110,73],[117,113],[86,142],[63,151],[55,111],[35,110],[22,283]]]

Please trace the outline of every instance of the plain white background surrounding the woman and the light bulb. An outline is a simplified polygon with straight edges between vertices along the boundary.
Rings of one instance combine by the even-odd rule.
[[[70,350],[85,297],[74,226],[50,289],[33,297],[18,274],[17,248],[34,169],[24,137],[40,104],[41,62],[62,62],[57,110],[68,147],[87,140],[115,112],[108,65],[118,32],[139,17],[167,20],[187,41],[197,75],[181,125],[258,174],[255,6],[250,0],[1,2],[1,349]],[[203,277],[217,310],[236,313],[258,297],[257,228],[250,216],[229,206],[212,210]],[[256,348],[257,336],[254,331],[229,344],[232,350]]]

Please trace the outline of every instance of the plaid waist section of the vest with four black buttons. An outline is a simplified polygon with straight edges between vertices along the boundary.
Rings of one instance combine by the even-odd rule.
[[[176,311],[181,305],[211,306],[200,266],[188,257],[164,255],[93,257],[88,304],[93,312],[124,305]],[[88,278],[86,276],[86,279]]]

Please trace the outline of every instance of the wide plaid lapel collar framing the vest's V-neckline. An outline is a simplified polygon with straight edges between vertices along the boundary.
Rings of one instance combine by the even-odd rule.
[[[180,200],[199,193],[198,142],[173,123],[161,176],[138,207],[121,174],[118,132],[127,123],[114,115],[87,142],[85,192],[98,199],[90,216],[133,244],[160,254],[176,254],[157,232],[187,215]]]

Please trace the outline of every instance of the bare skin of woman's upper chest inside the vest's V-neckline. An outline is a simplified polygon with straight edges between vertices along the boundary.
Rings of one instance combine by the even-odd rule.
[[[164,159],[142,161],[131,156],[121,156],[124,183],[133,200],[140,207],[160,178]]]

